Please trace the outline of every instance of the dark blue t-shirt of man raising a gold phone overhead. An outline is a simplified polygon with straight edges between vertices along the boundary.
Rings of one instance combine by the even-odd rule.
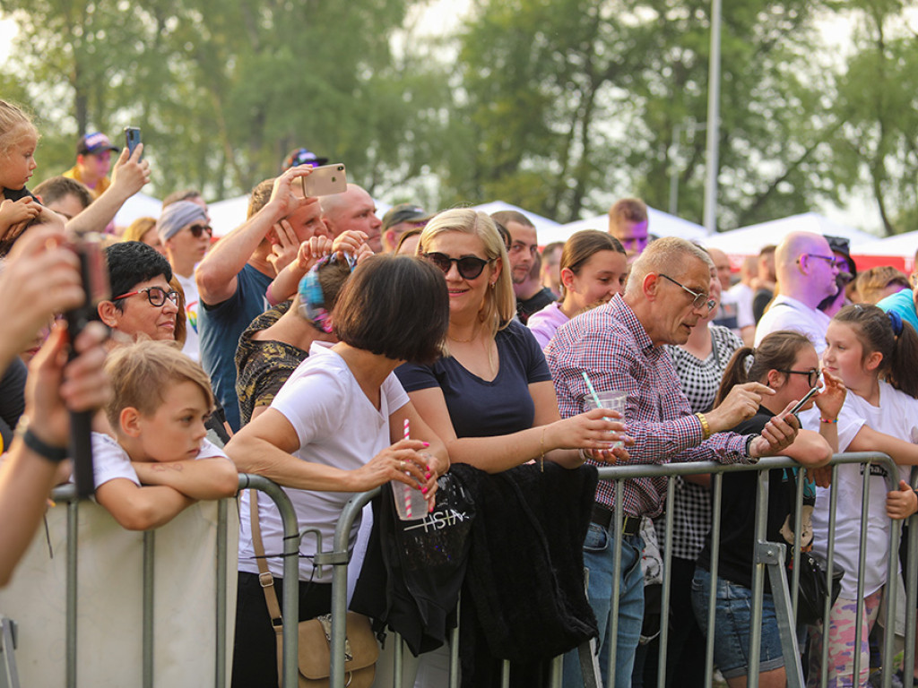
[[[239,397],[236,396],[236,350],[246,327],[269,307],[264,293],[272,278],[246,264],[236,275],[236,291],[221,304],[205,304],[197,311],[201,366],[223,406],[229,427],[240,428]]]

